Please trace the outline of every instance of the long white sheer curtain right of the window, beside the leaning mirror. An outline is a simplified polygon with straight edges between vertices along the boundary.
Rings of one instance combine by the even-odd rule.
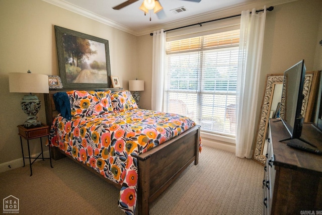
[[[256,107],[266,19],[256,9],[243,11],[240,19],[239,58],[236,96],[236,156],[252,158]]]

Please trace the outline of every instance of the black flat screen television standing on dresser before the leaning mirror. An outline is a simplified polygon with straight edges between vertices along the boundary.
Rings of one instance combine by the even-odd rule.
[[[303,116],[301,115],[301,108],[304,98],[304,79],[304,60],[284,71],[280,118],[290,133],[290,137],[287,139],[299,139],[302,133]]]

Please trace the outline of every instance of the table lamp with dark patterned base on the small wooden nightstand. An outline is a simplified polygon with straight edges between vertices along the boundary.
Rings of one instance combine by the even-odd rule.
[[[29,93],[21,101],[22,110],[28,115],[24,123],[25,128],[41,126],[37,120],[37,113],[40,110],[40,101],[32,93],[49,93],[48,76],[43,74],[9,73],[9,92],[10,93]]]

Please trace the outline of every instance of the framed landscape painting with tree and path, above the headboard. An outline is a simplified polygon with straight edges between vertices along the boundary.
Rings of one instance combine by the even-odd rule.
[[[110,88],[108,40],[55,26],[63,88]]]

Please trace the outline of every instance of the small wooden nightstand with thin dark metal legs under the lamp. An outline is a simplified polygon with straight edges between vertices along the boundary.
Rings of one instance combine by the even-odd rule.
[[[31,165],[37,159],[42,159],[42,160],[49,159],[50,160],[50,166],[51,166],[51,168],[53,168],[52,164],[51,164],[50,145],[48,143],[49,158],[44,158],[44,153],[43,153],[43,149],[42,149],[42,140],[41,140],[41,137],[43,137],[43,136],[47,136],[47,139],[48,139],[49,126],[45,125],[45,124],[42,124],[40,127],[35,127],[35,128],[25,128],[24,125],[18,125],[17,127],[19,129],[21,151],[22,151],[22,157],[23,157],[23,161],[24,161],[24,166],[23,167],[25,167],[25,158],[28,158],[29,159],[29,164],[30,164],[30,176],[32,176]],[[27,140],[28,156],[29,157],[24,156],[24,148],[23,148],[23,144],[22,144],[22,137]],[[34,138],[40,138],[41,153],[37,156],[37,158],[30,157],[29,139],[34,139]],[[42,157],[39,158],[40,156],[42,156]],[[31,162],[31,159],[34,159],[33,162]]]

